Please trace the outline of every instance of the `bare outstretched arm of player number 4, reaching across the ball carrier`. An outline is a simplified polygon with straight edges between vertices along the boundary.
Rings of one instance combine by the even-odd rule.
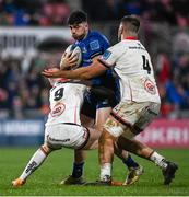
[[[44,70],[42,74],[44,74],[47,78],[67,78],[67,79],[87,80],[102,74],[106,70],[107,68],[103,63],[101,63],[98,60],[95,60],[88,67],[82,67],[75,70],[59,70],[59,71]]]

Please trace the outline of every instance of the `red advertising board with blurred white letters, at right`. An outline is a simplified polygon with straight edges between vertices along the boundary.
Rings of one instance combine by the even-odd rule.
[[[156,148],[189,148],[189,119],[154,120],[137,139]]]

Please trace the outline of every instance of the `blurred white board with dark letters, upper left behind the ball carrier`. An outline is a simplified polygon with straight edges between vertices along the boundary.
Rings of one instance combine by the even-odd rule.
[[[68,27],[0,27],[0,54],[22,56],[32,53],[36,44],[50,37],[70,42]]]

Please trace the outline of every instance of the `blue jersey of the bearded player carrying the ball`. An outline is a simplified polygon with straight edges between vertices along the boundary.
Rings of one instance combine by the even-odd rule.
[[[79,46],[82,51],[82,62],[81,67],[87,67],[93,62],[93,58],[103,55],[110,44],[108,39],[101,33],[96,31],[90,31],[87,36],[82,40],[76,40],[74,45]],[[109,105],[114,106],[119,101],[119,88],[118,80],[113,76],[113,70],[109,69],[99,77],[91,79],[92,86],[104,86],[114,91],[113,103],[110,104],[108,100],[98,101],[93,94],[86,95],[87,102],[96,106],[96,108],[107,107]]]

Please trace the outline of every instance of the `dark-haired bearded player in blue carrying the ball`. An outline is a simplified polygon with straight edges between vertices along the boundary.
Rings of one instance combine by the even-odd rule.
[[[74,45],[79,46],[82,50],[81,67],[90,66],[99,55],[109,47],[108,39],[96,31],[91,31],[88,27],[87,15],[83,11],[74,11],[68,19],[68,24],[71,31],[72,37],[75,39]],[[67,63],[67,62],[64,62]],[[119,97],[118,83],[116,82],[111,70],[106,71],[104,74],[93,78],[91,80],[92,89],[85,96],[83,105],[82,116],[83,124],[91,126],[92,119],[95,118],[95,128],[102,130],[103,124],[106,121],[111,107],[114,107]],[[97,95],[97,92],[102,92],[103,95]],[[104,93],[108,95],[104,95]],[[126,178],[126,184],[132,184],[135,182],[143,172],[143,167],[133,161],[130,154],[126,151],[118,150],[116,154],[122,160],[122,162],[129,169],[129,174]],[[61,182],[61,184],[83,184],[83,165],[84,165],[85,152],[74,151],[74,163],[72,175],[68,176]]]

